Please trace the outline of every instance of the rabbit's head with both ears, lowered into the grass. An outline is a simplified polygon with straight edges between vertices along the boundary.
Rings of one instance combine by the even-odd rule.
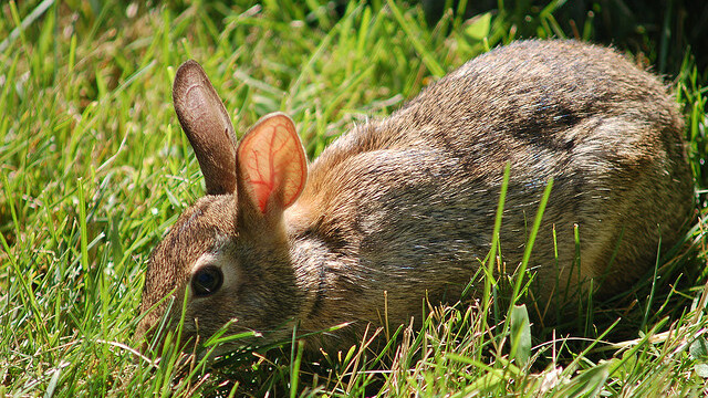
[[[207,196],[150,256],[137,337],[152,334],[166,312],[174,327],[183,310],[183,342],[204,342],[226,324],[231,333],[278,329],[301,300],[283,223],[308,175],[294,124],[270,114],[237,146],[223,104],[194,61],[177,71],[173,98]]]

